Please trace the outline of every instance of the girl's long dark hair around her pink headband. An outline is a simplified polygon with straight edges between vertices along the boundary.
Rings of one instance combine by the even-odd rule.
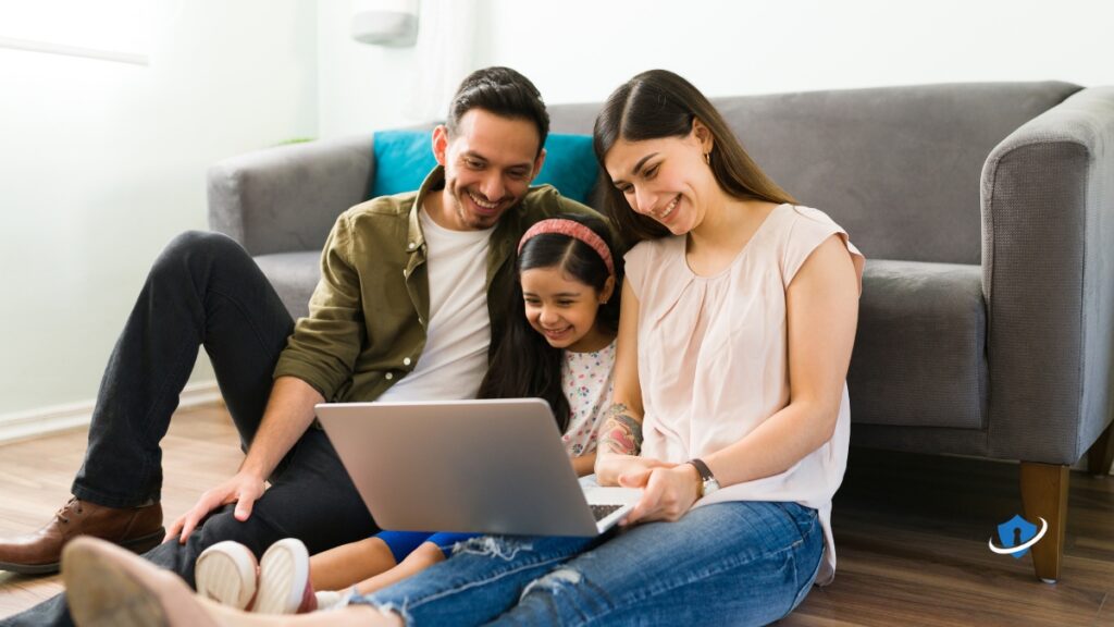
[[[596,324],[612,332],[618,331],[619,293],[623,277],[623,254],[615,248],[615,238],[604,220],[594,215],[561,214],[555,218],[573,220],[592,229],[612,251],[615,263],[615,289],[612,298],[599,306]],[[610,273],[603,258],[588,244],[560,233],[543,233],[526,241],[516,261],[516,276],[524,270],[559,268],[570,278],[590,286],[599,293]],[[510,319],[499,340],[491,367],[480,384],[480,398],[543,398],[557,418],[561,433],[568,428],[569,405],[560,385],[561,349],[534,330],[526,320],[522,282],[516,280],[507,301]]]

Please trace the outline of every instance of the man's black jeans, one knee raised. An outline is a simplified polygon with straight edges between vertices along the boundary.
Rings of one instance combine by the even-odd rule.
[[[109,358],[74,494],[109,507],[159,500],[159,442],[201,346],[241,441],[250,444],[292,330],[278,295],[240,244],[216,233],[176,238],[155,261]],[[378,531],[336,452],[314,428],[283,459],[251,518],[238,522],[232,511],[214,512],[186,544],[172,540],[144,557],[192,586],[198,553],[222,540],[243,542],[260,556],[293,537],[315,553]],[[0,623],[71,624],[63,595]]]

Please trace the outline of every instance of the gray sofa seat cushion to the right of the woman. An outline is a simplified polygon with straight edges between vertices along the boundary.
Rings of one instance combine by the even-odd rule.
[[[868,260],[847,377],[852,422],[984,428],[986,329],[981,267]]]

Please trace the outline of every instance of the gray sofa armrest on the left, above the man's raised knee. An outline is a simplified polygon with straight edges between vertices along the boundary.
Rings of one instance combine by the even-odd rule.
[[[277,146],[208,171],[208,222],[253,255],[320,250],[336,216],[368,197],[372,136]]]

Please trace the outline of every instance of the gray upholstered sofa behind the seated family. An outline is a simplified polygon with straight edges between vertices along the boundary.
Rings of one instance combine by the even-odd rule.
[[[1114,88],[966,84],[720,98],[765,171],[868,258],[852,443],[1020,461],[1059,577],[1069,464],[1105,472],[1114,392]],[[598,104],[550,107],[590,133]],[[234,157],[209,223],[295,316],[334,218],[369,194],[372,136]],[[988,530],[988,533],[991,530]]]

